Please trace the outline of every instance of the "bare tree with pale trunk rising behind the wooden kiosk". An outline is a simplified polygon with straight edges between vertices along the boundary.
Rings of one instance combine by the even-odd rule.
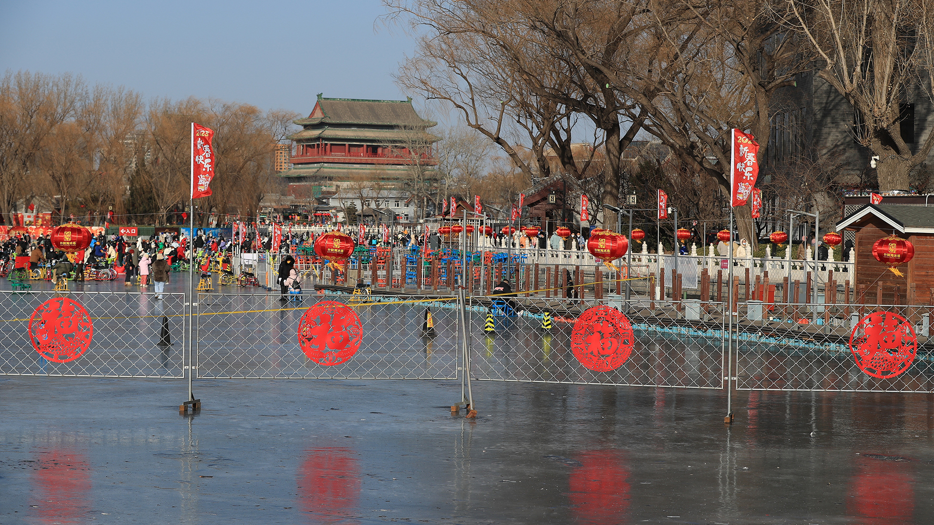
[[[934,134],[913,152],[902,135],[913,93],[934,90],[934,7],[926,0],[786,0],[820,57],[818,76],[856,109],[860,144],[879,157],[881,190],[905,190],[912,170],[927,161]]]

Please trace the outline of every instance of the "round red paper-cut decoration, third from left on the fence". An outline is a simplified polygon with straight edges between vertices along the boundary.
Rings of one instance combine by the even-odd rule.
[[[571,350],[590,370],[616,370],[630,359],[634,338],[630,319],[609,306],[587,308],[574,323]]]

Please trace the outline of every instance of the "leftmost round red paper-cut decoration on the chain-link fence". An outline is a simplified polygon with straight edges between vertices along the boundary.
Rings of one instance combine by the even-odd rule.
[[[29,318],[33,348],[51,362],[75,361],[91,347],[93,334],[88,310],[64,297],[38,305]]]

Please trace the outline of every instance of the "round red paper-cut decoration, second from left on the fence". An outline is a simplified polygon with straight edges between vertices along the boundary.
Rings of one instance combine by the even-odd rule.
[[[322,301],[305,310],[298,325],[304,355],[323,366],[347,362],[360,349],[363,327],[353,308]]]

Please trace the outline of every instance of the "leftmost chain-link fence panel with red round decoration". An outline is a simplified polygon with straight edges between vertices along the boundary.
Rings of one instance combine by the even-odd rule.
[[[183,293],[0,294],[0,374],[182,377]]]

